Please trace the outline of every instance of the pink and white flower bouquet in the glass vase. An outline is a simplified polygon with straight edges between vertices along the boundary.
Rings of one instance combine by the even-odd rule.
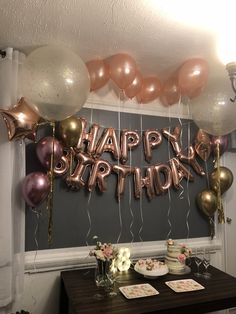
[[[112,261],[118,255],[118,250],[111,243],[97,242],[95,248],[89,252],[90,256],[95,256],[97,260]]]

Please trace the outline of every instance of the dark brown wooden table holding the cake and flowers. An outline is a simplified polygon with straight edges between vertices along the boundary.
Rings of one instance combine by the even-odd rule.
[[[94,296],[102,292],[94,282],[94,269],[63,271],[61,273],[60,314],[77,313],[207,313],[236,307],[236,278],[214,268],[209,268],[212,278],[196,278],[194,270],[188,275],[171,275],[147,280],[134,270],[119,274],[116,284],[117,295],[97,300]],[[165,281],[192,278],[202,284],[205,289],[194,292],[176,293]],[[119,287],[150,283],[159,291],[159,295],[126,299]]]

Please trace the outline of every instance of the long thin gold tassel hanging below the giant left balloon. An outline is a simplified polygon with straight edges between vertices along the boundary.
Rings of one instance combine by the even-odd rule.
[[[53,227],[53,219],[52,219],[52,210],[53,210],[53,192],[54,192],[54,140],[55,140],[55,122],[51,122],[52,126],[52,154],[50,160],[50,171],[48,172],[50,179],[50,193],[48,194],[47,200],[47,210],[48,210],[48,244],[52,245],[52,227]]]

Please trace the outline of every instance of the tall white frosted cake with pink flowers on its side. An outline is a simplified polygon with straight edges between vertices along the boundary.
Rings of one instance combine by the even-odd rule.
[[[191,249],[185,244],[178,244],[176,241],[167,241],[166,265],[170,274],[184,274],[186,272],[185,260],[191,254]]]

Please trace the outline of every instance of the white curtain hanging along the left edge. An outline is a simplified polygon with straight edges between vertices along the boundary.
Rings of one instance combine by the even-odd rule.
[[[7,48],[0,57],[0,108],[8,109],[20,98],[18,74],[24,55]],[[0,314],[11,313],[24,285],[24,202],[20,182],[25,176],[25,147],[9,142],[0,116]]]

